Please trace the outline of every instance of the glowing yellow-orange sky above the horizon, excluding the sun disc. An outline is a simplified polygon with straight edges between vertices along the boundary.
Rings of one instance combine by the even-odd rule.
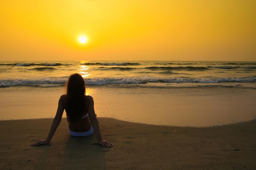
[[[256,0],[0,0],[0,60],[256,61],[255,9]]]

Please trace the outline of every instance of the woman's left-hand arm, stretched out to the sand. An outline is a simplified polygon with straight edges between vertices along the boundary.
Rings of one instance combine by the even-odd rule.
[[[44,144],[49,144],[49,142],[51,141],[58,125],[61,122],[61,118],[63,115],[63,111],[64,111],[64,104],[63,104],[63,96],[60,97],[59,101],[58,101],[58,109],[57,109],[57,113],[56,116],[52,122],[52,126],[51,129],[49,131],[48,137],[45,140],[39,140],[34,144],[31,144],[31,146],[38,146],[38,145],[44,145]]]

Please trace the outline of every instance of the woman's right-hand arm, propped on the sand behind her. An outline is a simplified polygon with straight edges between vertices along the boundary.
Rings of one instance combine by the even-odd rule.
[[[111,147],[113,146],[110,142],[103,140],[101,137],[101,133],[99,131],[99,122],[96,118],[95,111],[94,111],[94,101],[91,96],[88,96],[89,98],[89,104],[88,104],[88,115],[92,124],[92,127],[94,129],[94,133],[96,135],[96,138],[98,140],[98,143],[101,144],[104,147]]]

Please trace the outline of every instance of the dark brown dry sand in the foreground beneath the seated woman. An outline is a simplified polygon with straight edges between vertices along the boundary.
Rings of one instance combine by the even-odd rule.
[[[0,169],[256,169],[256,120],[214,127],[177,127],[98,118],[103,148],[95,135],[71,137],[65,118],[49,145],[52,118],[0,121]]]

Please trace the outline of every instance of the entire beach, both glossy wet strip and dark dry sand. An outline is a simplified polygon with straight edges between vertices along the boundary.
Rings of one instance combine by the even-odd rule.
[[[95,135],[71,137],[65,112],[50,145],[30,146],[47,137],[63,93],[0,89],[0,169],[256,169],[255,89],[90,87],[113,147],[99,146]]]

